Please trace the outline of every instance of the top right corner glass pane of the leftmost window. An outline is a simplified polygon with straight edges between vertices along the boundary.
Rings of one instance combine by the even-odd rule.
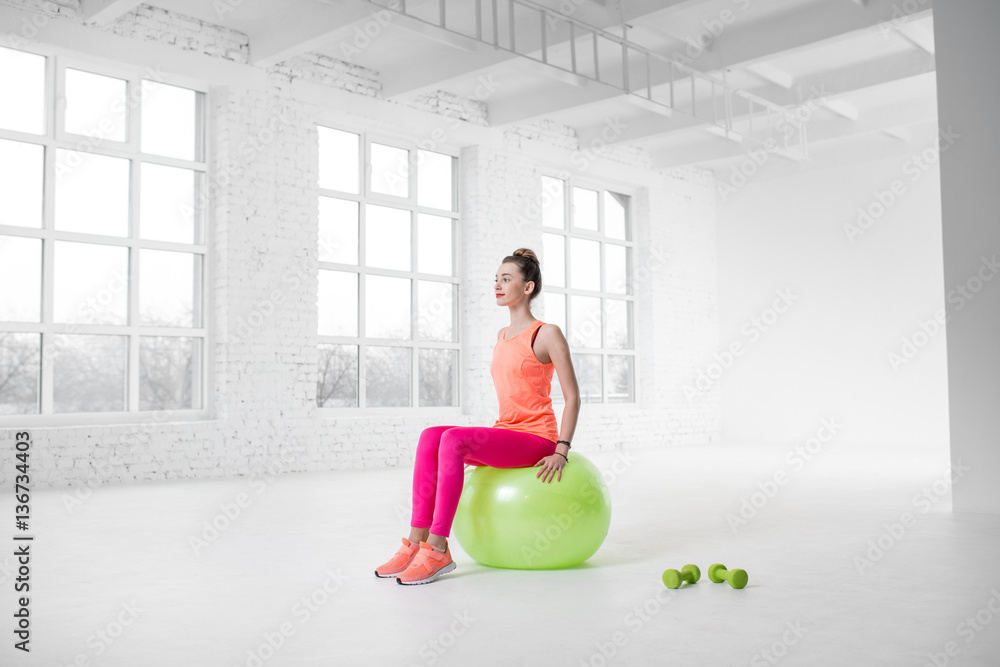
[[[142,81],[142,152],[196,160],[198,93],[158,81]]]

